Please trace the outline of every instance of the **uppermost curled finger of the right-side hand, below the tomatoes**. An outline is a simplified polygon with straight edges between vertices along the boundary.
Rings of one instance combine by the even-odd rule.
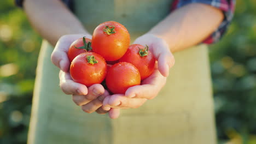
[[[142,81],[142,85],[133,86],[126,90],[125,95],[129,98],[153,99],[158,95],[166,83],[166,77],[162,76],[159,70]]]

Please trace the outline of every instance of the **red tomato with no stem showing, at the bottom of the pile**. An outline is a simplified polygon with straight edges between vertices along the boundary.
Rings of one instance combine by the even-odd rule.
[[[131,63],[116,63],[108,70],[106,85],[114,94],[124,94],[129,87],[140,84],[141,76],[139,75],[139,71]]]

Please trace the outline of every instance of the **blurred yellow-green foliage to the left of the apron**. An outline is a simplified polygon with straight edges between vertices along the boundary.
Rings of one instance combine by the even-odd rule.
[[[0,2],[0,143],[26,143],[41,43],[13,2]]]

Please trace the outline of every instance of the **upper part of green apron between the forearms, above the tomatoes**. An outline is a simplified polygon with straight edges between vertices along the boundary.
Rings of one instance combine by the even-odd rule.
[[[92,34],[105,21],[117,21],[129,31],[131,39],[149,31],[164,19],[171,8],[170,0],[96,0],[74,1],[74,13]]]

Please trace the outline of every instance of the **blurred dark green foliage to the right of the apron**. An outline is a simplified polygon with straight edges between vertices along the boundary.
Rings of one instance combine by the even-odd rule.
[[[256,1],[237,0],[228,33],[220,43],[210,47],[219,139],[232,139],[230,129],[243,137],[256,134],[255,46]]]

